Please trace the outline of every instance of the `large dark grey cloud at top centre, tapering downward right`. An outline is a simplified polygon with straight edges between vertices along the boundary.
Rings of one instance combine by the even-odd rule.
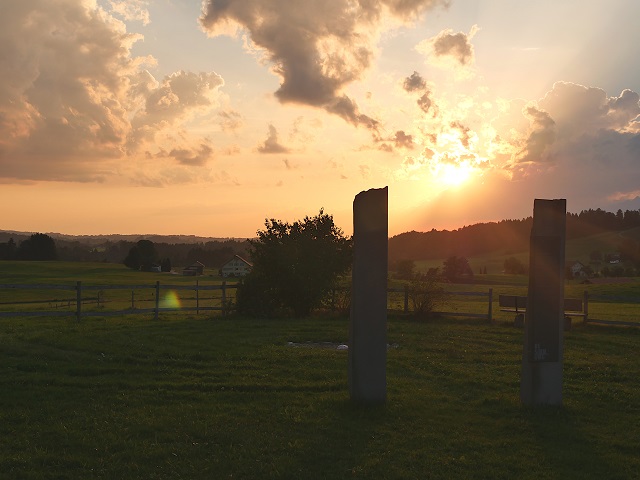
[[[373,59],[383,17],[415,19],[440,0],[206,0],[200,22],[210,35],[243,29],[263,49],[281,78],[275,92],[294,102],[340,115],[375,129],[377,121],[359,112],[342,90],[361,78]]]

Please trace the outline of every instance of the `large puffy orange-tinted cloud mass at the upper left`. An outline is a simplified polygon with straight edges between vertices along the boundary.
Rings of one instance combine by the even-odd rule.
[[[111,5],[146,21],[144,1]],[[0,3],[0,177],[104,180],[163,129],[216,107],[218,75],[178,72],[158,82],[144,70],[154,59],[131,54],[140,38],[96,2]],[[172,148],[197,151],[202,141],[184,137]]]

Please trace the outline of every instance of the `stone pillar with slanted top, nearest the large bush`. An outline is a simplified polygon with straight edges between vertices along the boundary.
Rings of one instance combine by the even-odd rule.
[[[357,402],[387,397],[388,189],[353,201],[353,270],[349,324],[349,394]]]

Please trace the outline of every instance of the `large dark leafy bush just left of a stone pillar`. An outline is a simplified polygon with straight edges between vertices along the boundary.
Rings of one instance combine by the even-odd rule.
[[[265,220],[257,235],[251,241],[253,269],[238,288],[243,314],[272,316],[289,309],[307,316],[351,266],[351,240],[322,209],[292,224]]]

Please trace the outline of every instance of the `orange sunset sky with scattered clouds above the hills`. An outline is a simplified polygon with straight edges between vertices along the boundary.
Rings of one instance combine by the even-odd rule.
[[[0,229],[640,208],[637,0],[0,0]]]

